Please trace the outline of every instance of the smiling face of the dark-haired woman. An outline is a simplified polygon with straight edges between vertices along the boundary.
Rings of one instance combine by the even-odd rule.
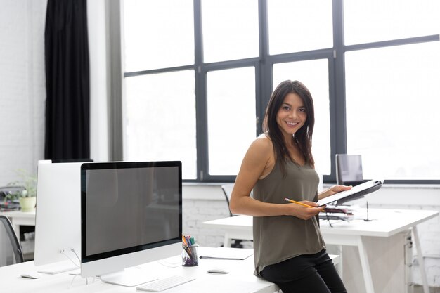
[[[306,107],[302,99],[296,93],[287,93],[276,115],[276,122],[286,141],[306,123],[306,119]]]

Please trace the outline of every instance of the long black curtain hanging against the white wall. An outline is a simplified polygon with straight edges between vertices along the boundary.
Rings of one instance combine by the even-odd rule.
[[[86,0],[48,0],[46,159],[90,157],[90,81]]]

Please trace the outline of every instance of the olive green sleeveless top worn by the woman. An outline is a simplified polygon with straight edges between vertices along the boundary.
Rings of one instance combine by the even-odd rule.
[[[257,181],[253,197],[262,202],[289,204],[291,200],[318,200],[319,178],[316,171],[287,160],[283,177],[278,162],[268,176]],[[315,254],[324,247],[317,217],[302,220],[295,216],[254,216],[255,274],[265,266],[285,261],[301,254]]]

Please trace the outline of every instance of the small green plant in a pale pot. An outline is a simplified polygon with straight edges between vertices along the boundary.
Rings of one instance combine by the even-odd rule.
[[[21,186],[22,188],[17,188],[15,193],[6,195],[6,197],[11,201],[18,199],[22,211],[34,211],[37,202],[37,177],[24,169],[18,169],[16,172],[20,179],[8,183],[8,185]]]

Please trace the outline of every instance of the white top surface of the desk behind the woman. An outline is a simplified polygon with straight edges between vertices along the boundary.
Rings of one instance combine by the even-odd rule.
[[[408,230],[423,221],[439,215],[439,211],[413,210],[413,209],[369,209],[366,219],[366,209],[360,209],[356,218],[352,221],[332,221],[330,227],[328,221],[321,220],[321,233],[325,235],[359,235],[389,237]],[[203,222],[208,226],[223,228],[226,230],[242,230],[249,233],[252,230],[252,216],[233,216],[224,219],[216,219]]]

